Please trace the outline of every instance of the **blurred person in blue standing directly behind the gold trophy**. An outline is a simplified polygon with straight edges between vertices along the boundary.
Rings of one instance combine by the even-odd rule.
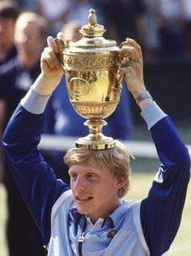
[[[76,21],[68,22],[63,29],[63,37],[76,41],[81,39],[78,32],[80,24]],[[104,128],[104,134],[127,140],[130,138],[132,130],[132,116],[130,111],[130,98],[127,90],[123,89],[117,110],[112,116],[107,118],[108,125]],[[67,95],[67,85],[65,76],[62,77],[60,85],[55,89],[49,100],[44,114],[43,132],[63,136],[82,137],[88,134],[88,128],[84,127],[85,119],[79,116],[72,108]],[[63,162],[63,152],[48,152],[46,156],[49,163],[54,167],[58,178],[69,183],[67,174],[68,167]]]

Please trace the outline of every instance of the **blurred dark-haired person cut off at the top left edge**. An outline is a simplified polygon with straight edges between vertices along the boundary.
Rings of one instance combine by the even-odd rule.
[[[16,57],[14,26],[18,15],[19,12],[14,3],[0,2],[0,65]]]

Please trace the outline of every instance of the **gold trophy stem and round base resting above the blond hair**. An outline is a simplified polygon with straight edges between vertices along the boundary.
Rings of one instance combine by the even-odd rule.
[[[89,119],[84,122],[90,129],[90,134],[84,138],[79,138],[76,142],[77,147],[83,147],[90,150],[103,150],[115,147],[115,141],[111,137],[102,134],[103,126],[107,122],[103,119]]]

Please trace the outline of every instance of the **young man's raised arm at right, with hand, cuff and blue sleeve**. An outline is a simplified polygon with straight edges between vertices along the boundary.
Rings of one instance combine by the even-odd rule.
[[[130,66],[121,69],[128,89],[142,109],[156,146],[161,165],[148,198],[142,200],[141,223],[150,254],[161,256],[171,246],[182,217],[188,181],[190,158],[171,119],[149,96],[143,81],[142,52],[139,45],[127,39]],[[126,64],[124,64],[126,65]]]

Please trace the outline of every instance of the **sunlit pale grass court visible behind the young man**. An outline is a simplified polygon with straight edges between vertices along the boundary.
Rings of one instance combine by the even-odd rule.
[[[147,196],[148,189],[153,181],[154,172],[158,165],[156,160],[153,159],[136,159],[132,163],[133,170],[140,170],[135,172],[131,177],[130,191],[127,195],[127,199],[141,199]],[[147,167],[146,167],[147,166]],[[142,170],[148,170],[148,173],[142,172]],[[190,256],[191,252],[191,182],[188,187],[188,197],[186,205],[183,211],[181,228],[177,234],[175,241],[171,246],[171,250],[167,255],[170,256]],[[8,256],[4,235],[4,224],[6,219],[6,206],[5,206],[6,194],[3,186],[0,186],[0,255]],[[35,256],[35,255],[34,255]]]

